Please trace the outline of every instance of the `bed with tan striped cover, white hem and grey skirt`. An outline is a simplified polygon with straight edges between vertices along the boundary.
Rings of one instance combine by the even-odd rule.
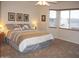
[[[12,30],[7,33],[9,45],[21,53],[49,46],[54,38],[51,33],[36,30]]]

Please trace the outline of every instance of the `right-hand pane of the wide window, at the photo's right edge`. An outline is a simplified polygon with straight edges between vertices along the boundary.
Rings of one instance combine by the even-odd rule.
[[[70,28],[79,29],[79,10],[70,11]]]

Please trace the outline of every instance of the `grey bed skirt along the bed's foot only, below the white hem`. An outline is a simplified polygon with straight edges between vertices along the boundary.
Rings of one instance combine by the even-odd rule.
[[[47,47],[51,46],[52,42],[53,42],[53,40],[48,40],[46,42],[42,42],[42,43],[39,43],[39,44],[28,46],[23,51],[23,53],[29,53],[29,52],[32,52],[32,51],[36,51],[36,50],[40,50],[40,49],[43,49],[43,48],[47,48]]]

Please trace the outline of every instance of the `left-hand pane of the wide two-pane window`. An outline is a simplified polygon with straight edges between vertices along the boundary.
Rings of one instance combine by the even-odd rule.
[[[69,28],[69,11],[61,11],[60,18],[60,27]]]

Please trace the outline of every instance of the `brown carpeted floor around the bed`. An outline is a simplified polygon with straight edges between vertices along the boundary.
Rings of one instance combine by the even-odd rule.
[[[28,54],[23,54],[9,45],[2,45],[1,57],[10,58],[78,58],[79,57],[79,45],[70,43],[67,41],[55,39],[51,46],[33,51]]]

